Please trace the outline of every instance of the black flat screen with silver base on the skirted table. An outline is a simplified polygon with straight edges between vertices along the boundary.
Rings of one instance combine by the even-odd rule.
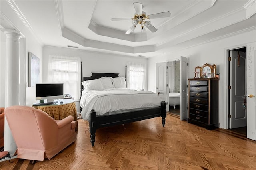
[[[47,102],[63,98],[63,83],[36,84],[36,100]]]

